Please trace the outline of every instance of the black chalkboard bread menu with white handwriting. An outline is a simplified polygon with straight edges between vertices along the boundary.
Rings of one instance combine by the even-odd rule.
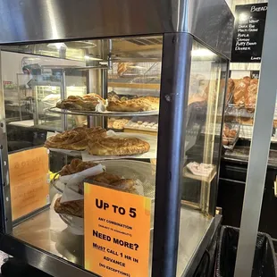
[[[267,4],[242,4],[235,10],[232,63],[260,63]]]

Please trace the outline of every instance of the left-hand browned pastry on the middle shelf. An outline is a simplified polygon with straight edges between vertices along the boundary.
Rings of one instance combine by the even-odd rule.
[[[48,138],[45,147],[80,151],[88,147],[88,139],[93,140],[105,136],[106,130],[101,127],[78,127]]]

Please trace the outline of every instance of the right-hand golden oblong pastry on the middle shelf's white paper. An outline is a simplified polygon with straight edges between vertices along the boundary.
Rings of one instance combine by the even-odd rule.
[[[139,155],[148,152],[149,144],[137,138],[100,138],[88,140],[90,155]]]

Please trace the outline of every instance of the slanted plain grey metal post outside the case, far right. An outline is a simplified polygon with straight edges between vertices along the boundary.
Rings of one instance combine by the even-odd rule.
[[[264,196],[264,181],[268,165],[273,118],[276,100],[277,55],[271,55],[276,49],[277,38],[273,36],[277,21],[276,1],[269,1],[264,30],[264,46],[256,112],[248,161],[243,209],[240,222],[238,254],[235,277],[250,276],[256,253],[256,237]],[[266,108],[264,108],[266,107]]]

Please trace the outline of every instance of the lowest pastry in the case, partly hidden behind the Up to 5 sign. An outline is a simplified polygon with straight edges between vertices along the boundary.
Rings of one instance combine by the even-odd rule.
[[[54,210],[56,213],[84,217],[84,199],[61,203],[61,198],[55,200]]]

